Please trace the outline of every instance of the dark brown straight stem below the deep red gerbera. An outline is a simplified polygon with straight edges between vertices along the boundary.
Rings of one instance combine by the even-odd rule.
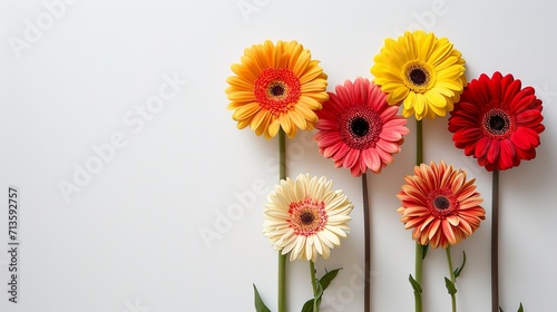
[[[491,311],[499,311],[499,170],[491,179]]]

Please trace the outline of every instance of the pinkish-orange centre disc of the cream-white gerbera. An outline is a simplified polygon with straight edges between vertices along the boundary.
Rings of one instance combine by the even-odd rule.
[[[328,221],[325,203],[306,198],[291,203],[289,207],[290,227],[296,235],[310,236],[322,231]]]

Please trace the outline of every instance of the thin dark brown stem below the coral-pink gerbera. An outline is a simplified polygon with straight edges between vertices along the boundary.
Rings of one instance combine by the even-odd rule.
[[[363,196],[363,232],[364,232],[364,304],[363,311],[370,312],[371,308],[371,211],[368,195],[368,176],[362,174],[362,196]]]

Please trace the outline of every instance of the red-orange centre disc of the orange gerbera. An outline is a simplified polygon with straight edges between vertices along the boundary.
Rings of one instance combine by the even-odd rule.
[[[287,113],[299,101],[300,79],[289,68],[267,68],[254,84],[255,100],[263,109],[278,116]]]

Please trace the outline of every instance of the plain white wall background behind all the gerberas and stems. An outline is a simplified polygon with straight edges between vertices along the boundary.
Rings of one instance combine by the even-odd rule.
[[[527,311],[557,311],[554,2],[0,6],[0,311],[254,311],[252,283],[276,311],[277,257],[262,234],[262,206],[277,182],[277,139],[236,129],[224,94],[229,67],[251,45],[297,40],[321,60],[333,90],[345,79],[372,78],[383,40],[417,28],[448,37],[469,80],[511,72],[544,100],[537,158],[501,173],[500,300],[505,311],[519,302]],[[167,100],[141,117],[160,89]],[[414,243],[395,212],[395,194],[414,163],[412,118],[408,126],[412,133],[394,164],[369,178],[373,311],[413,311]],[[99,163],[94,147],[108,148],[111,137],[114,155]],[[424,120],[424,159],[467,169],[485,198],[486,222],[453,248],[453,259],[458,265],[467,252],[459,311],[490,311],[491,175],[453,147],[447,118]],[[355,205],[351,235],[316,267],[319,275],[343,267],[322,311],[362,311],[361,182],[319,155],[311,133],[289,140],[287,150],[289,176],[325,175]],[[79,169],[87,165],[90,177]],[[60,184],[75,187],[68,201]],[[17,304],[7,293],[8,185],[20,195]],[[449,311],[444,252],[430,251],[424,265],[424,311]],[[291,263],[289,281],[289,311],[300,311],[311,296],[307,263]]]

